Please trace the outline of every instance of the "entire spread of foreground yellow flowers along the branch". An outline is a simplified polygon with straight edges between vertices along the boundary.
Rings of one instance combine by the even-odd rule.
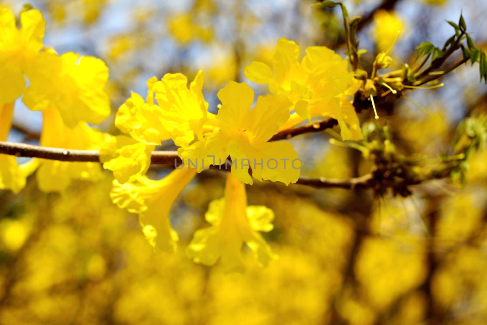
[[[308,47],[299,60],[299,46],[280,39],[272,68],[254,61],[244,70],[250,80],[268,84],[272,94],[255,100],[249,85],[229,81],[218,92],[221,105],[216,114],[208,111],[202,71],[189,85],[180,73],[152,77],[145,98],[131,93],[117,110],[115,126],[120,134],[110,135],[88,124],[99,124],[111,113],[104,90],[105,63],[75,53],[58,55],[44,47],[45,21],[35,9],[20,14],[20,29],[8,9],[0,9],[0,22],[0,63],[5,67],[0,72],[4,90],[0,140],[6,140],[14,102],[22,96],[29,109],[43,112],[42,146],[99,150],[103,168],[115,178],[110,194],[113,203],[139,215],[154,250],[175,251],[178,235],[169,212],[197,172],[229,161],[225,197],[209,205],[206,221],[211,226],[195,232],[187,255],[205,265],[221,259],[227,271],[243,271],[241,249],[246,244],[259,264],[267,265],[276,255],[260,231],[273,228],[274,214],[266,207],[247,207],[245,184],[252,185],[256,179],[289,185],[300,176],[300,168],[295,167],[300,157],[293,145],[269,140],[318,116],[337,119],[343,139],[362,138],[350,101],[360,83],[349,71],[348,61],[326,47]],[[149,179],[151,152],[165,140],[179,147],[183,165],[163,179]],[[102,175],[96,163],[38,159],[18,166],[12,156],[0,155],[0,160],[0,188],[14,192],[36,169],[42,191],[62,192],[71,180],[97,180]],[[200,163],[190,168],[190,162]]]

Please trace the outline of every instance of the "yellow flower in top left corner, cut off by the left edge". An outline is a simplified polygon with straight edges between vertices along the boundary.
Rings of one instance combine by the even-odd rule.
[[[42,49],[46,22],[38,10],[20,14],[17,29],[14,14],[0,6],[0,105],[12,103],[25,88],[24,73]],[[29,76],[30,77],[30,76]]]

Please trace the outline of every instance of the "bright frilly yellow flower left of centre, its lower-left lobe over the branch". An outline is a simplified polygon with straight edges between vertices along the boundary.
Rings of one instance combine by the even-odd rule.
[[[118,109],[115,125],[131,137],[109,137],[100,150],[100,161],[120,183],[135,181],[150,166],[150,153],[162,141],[171,139],[178,146],[188,145],[195,135],[202,137],[208,115],[203,97],[203,72],[187,87],[182,74],[166,74],[160,81],[147,81],[148,94],[131,93]],[[154,96],[159,105],[154,103]],[[214,124],[214,117],[211,118]]]

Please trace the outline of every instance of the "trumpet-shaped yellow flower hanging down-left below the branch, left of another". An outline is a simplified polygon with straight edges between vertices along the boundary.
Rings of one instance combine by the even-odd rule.
[[[172,253],[176,250],[178,235],[171,228],[169,211],[195,175],[196,170],[182,168],[161,180],[145,176],[125,184],[114,180],[110,197],[119,208],[139,214],[142,231],[150,246]]]

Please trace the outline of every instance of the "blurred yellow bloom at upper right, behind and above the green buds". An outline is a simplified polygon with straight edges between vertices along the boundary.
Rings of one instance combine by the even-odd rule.
[[[393,12],[378,10],[374,14],[375,44],[379,52],[386,52],[393,46],[397,32],[402,32],[404,24]]]

